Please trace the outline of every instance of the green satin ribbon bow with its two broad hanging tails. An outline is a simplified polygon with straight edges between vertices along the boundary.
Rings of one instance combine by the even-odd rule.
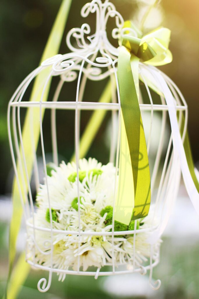
[[[148,214],[151,201],[149,160],[139,107],[139,61],[164,65],[172,61],[172,54],[168,50],[169,29],[158,28],[142,36],[130,21],[125,22],[124,28],[127,30],[118,56],[121,138],[115,220],[128,225],[131,219]]]

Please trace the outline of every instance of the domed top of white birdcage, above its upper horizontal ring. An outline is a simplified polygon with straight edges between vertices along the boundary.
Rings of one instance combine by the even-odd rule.
[[[30,73],[22,82],[21,86],[24,87],[24,90],[26,90],[30,82],[44,68],[47,67],[51,67],[51,70],[46,80],[45,87],[47,86],[50,77],[60,76],[63,82],[72,82],[78,78],[78,94],[82,74],[84,74],[87,79],[93,81],[104,80],[113,75],[116,80],[116,85],[118,85],[117,62],[119,49],[121,48],[121,39],[124,36],[129,35],[135,36],[135,38],[137,38],[138,34],[132,27],[126,26],[124,28],[125,22],[123,17],[116,10],[115,5],[109,2],[109,0],[105,0],[104,2],[101,0],[92,0],[89,3],[86,3],[81,9],[81,16],[83,18],[86,18],[89,16],[89,14],[95,14],[96,16],[95,33],[90,35],[91,28],[87,23],[84,23],[81,28],[72,28],[66,36],[66,44],[71,52],[67,54],[57,54],[44,60],[41,65],[32,73]],[[115,28],[112,29],[112,38],[118,41],[118,47],[113,46],[107,37],[107,22],[109,18],[115,20]],[[155,89],[155,91],[160,95],[163,95],[161,85],[152,74],[153,70],[153,66],[144,64],[139,61],[139,79],[144,83],[146,88],[147,86],[149,86],[152,89]],[[180,96],[178,96],[178,99],[176,99],[175,101],[176,109],[186,110],[186,101],[178,90],[177,86],[164,73],[162,73],[161,71],[159,72],[166,80],[166,83],[168,83],[169,86],[173,86],[173,88],[176,90],[176,96],[180,94]],[[150,78],[150,80],[148,80],[147,78]],[[119,89],[118,86],[117,89]],[[147,92],[149,94],[148,90]],[[151,99],[150,96],[149,98]],[[79,102],[78,95],[76,98],[76,102]],[[85,101],[83,101],[82,103],[78,103],[78,105],[81,105],[81,109],[93,109],[93,105],[96,104],[95,109],[118,110],[120,106],[119,94],[117,102],[118,103],[86,103]],[[29,103],[25,101],[24,97],[22,96],[18,97],[18,99],[15,98],[15,100],[13,100],[12,98],[10,100],[10,104],[11,106],[29,107]],[[40,104],[42,104],[44,108],[53,108],[55,106],[55,103],[53,102],[42,102]],[[31,103],[31,105],[35,106],[38,106],[40,104],[34,101],[32,101]],[[56,103],[56,107],[58,106],[58,108],[62,108],[61,105],[62,103],[60,102]],[[65,108],[75,108],[74,102],[67,102],[66,105],[67,107],[64,106]],[[152,105],[152,101],[150,100],[150,104],[140,103],[140,106],[141,109],[146,110],[168,110],[166,103],[163,103],[163,101],[158,104],[153,103]]]

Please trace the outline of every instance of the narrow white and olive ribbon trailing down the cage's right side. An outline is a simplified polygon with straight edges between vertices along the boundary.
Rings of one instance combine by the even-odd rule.
[[[189,198],[191,199],[191,202],[199,216],[199,183],[197,176],[194,171],[194,163],[192,159],[191,154],[191,148],[189,144],[189,137],[188,133],[186,132],[184,144],[181,139],[181,132],[184,128],[184,117],[182,118],[182,124],[181,124],[181,130],[178,126],[178,118],[176,114],[176,107],[175,102],[173,99],[172,92],[170,91],[167,83],[163,79],[162,75],[159,74],[156,70],[151,70],[152,76],[154,77],[156,81],[156,86],[154,91],[156,92],[157,86],[158,88],[162,90],[166,104],[168,106],[168,112],[169,112],[169,119],[171,124],[171,130],[172,130],[172,142],[173,142],[173,151],[174,151],[174,163],[180,164],[180,170],[182,172],[183,181],[187,190],[187,193],[189,195]],[[180,132],[181,131],[181,132]],[[179,161],[179,162],[178,162]],[[178,169],[178,165],[175,166],[175,169]],[[178,182],[177,182],[178,184]],[[169,208],[172,209],[173,201],[171,202],[171,206]],[[170,214],[167,213],[166,217],[163,219],[163,222],[161,223],[161,226],[158,228],[158,230],[155,230],[146,240],[147,242],[154,244],[154,242],[157,242],[157,240],[161,237],[162,232],[164,231],[168,220],[169,220]]]

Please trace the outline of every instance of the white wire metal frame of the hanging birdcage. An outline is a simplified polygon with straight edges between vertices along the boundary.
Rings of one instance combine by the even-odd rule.
[[[163,167],[160,167],[160,161],[162,159],[162,150],[163,150],[163,140],[166,128],[166,118],[169,106],[165,102],[164,93],[162,92],[161,83],[158,83],[160,92],[161,104],[154,104],[151,92],[149,87],[147,86],[145,80],[145,71],[147,70],[151,77],[158,82],[158,76],[166,82],[167,86],[172,92],[173,95],[173,103],[175,106],[176,111],[179,112],[178,118],[178,126],[180,127],[182,121],[182,113],[185,115],[185,125],[182,140],[185,137],[186,126],[187,126],[187,105],[186,102],[177,88],[177,86],[169,79],[165,74],[161,71],[157,70],[156,68],[144,65],[140,63],[139,65],[139,72],[140,72],[140,79],[143,81],[144,86],[146,88],[150,104],[143,104],[140,103],[141,111],[147,110],[151,112],[151,124],[150,124],[150,133],[149,139],[147,144],[148,154],[150,156],[150,141],[151,141],[151,131],[152,131],[152,123],[154,113],[156,111],[162,112],[162,123],[161,123],[161,134],[159,137],[159,145],[157,149],[157,154],[155,158],[155,164],[151,172],[151,192],[152,198],[155,203],[155,211],[154,211],[154,218],[158,218],[158,225],[152,225],[148,231],[150,233],[150,237],[147,240],[149,244],[151,244],[151,255],[148,260],[148,263],[145,266],[135,265],[135,262],[127,263],[126,270],[120,269],[120,266],[124,265],[117,265],[115,264],[115,260],[112,259],[112,266],[111,271],[101,271],[101,269],[97,269],[96,271],[80,271],[80,265],[78,265],[78,271],[73,270],[61,270],[55,269],[53,267],[53,233],[61,232],[64,234],[69,234],[69,231],[58,231],[53,229],[52,225],[52,214],[50,213],[50,228],[42,228],[37,227],[34,222],[34,204],[33,198],[30,188],[30,179],[28,177],[27,172],[27,161],[24,155],[24,145],[22,140],[22,133],[21,133],[21,120],[20,120],[20,109],[22,108],[31,108],[31,107],[39,107],[40,108],[40,135],[41,135],[41,147],[42,147],[42,156],[43,156],[43,164],[44,164],[44,172],[45,172],[45,181],[48,190],[48,181],[47,181],[47,171],[46,171],[46,160],[45,160],[45,149],[44,149],[44,141],[43,141],[43,129],[42,129],[42,109],[51,109],[51,125],[52,125],[52,140],[53,140],[53,160],[54,163],[58,165],[58,146],[57,146],[57,135],[56,135],[56,110],[58,109],[65,109],[65,110],[75,110],[75,157],[76,157],[76,164],[77,164],[77,181],[78,181],[78,157],[79,157],[79,131],[80,131],[80,111],[81,110],[97,110],[97,109],[104,109],[112,111],[112,119],[116,118],[118,114],[118,119],[120,119],[120,94],[118,88],[118,80],[117,80],[117,59],[118,59],[118,48],[115,48],[111,45],[107,38],[106,34],[106,25],[107,20],[109,17],[115,18],[116,28],[112,30],[112,37],[118,39],[120,36],[124,35],[123,25],[124,20],[122,16],[115,10],[115,6],[110,3],[108,0],[105,0],[102,3],[101,0],[93,0],[90,3],[84,5],[81,10],[82,17],[87,17],[89,13],[96,13],[96,32],[92,36],[87,36],[85,39],[85,35],[90,34],[90,26],[88,24],[83,24],[81,28],[73,28],[67,34],[66,42],[67,46],[70,48],[71,53],[64,54],[64,55],[55,55],[44,62],[42,62],[41,66],[36,68],[31,74],[27,76],[27,78],[21,83],[18,87],[16,92],[14,93],[13,97],[9,102],[8,107],[8,132],[9,132],[9,141],[10,141],[10,149],[11,155],[13,160],[13,166],[15,170],[16,180],[18,183],[19,194],[21,198],[21,204],[24,209],[24,216],[26,220],[27,228],[30,227],[33,229],[33,240],[35,246],[38,250],[41,249],[38,247],[35,241],[35,231],[50,231],[51,232],[51,242],[48,240],[44,240],[44,245],[46,248],[49,248],[49,254],[51,254],[51,267],[45,267],[31,261],[27,257],[27,262],[38,269],[43,269],[49,271],[49,279],[48,283],[45,278],[42,278],[38,282],[38,289],[41,292],[45,292],[50,288],[52,273],[64,273],[64,274],[78,274],[78,275],[93,275],[95,278],[101,275],[115,275],[115,274],[124,274],[130,272],[140,272],[141,274],[146,274],[147,270],[149,270],[149,281],[151,286],[154,289],[158,289],[161,282],[157,280],[154,284],[152,282],[152,269],[155,267],[159,262],[159,246],[157,248],[153,247],[153,244],[161,237],[161,234],[168,222],[169,215],[172,210],[172,206],[175,202],[175,198],[177,196],[180,177],[181,177],[181,170],[179,159],[174,159],[174,155],[172,152],[172,135],[169,140],[168,149],[166,152],[166,157],[164,160]],[[136,35],[136,32],[131,28],[128,28],[131,34]],[[77,48],[71,43],[71,37],[76,39]],[[85,63],[87,66],[85,67]],[[28,102],[25,98],[24,94],[27,90],[31,81],[44,69],[51,66],[52,71],[50,72],[43,92],[41,96],[40,102]],[[105,70],[105,71],[103,71]],[[55,95],[53,101],[50,102],[43,102],[43,95],[45,92],[45,88],[47,83],[49,82],[50,78],[53,76],[60,76],[60,81],[58,83],[57,89],[55,91]],[[117,96],[116,94],[112,94],[112,103],[98,103],[98,102],[82,102],[83,93],[86,85],[86,80],[103,80],[107,77],[111,77],[111,82],[114,91],[114,84],[116,82],[117,87]],[[70,102],[58,102],[59,94],[61,89],[64,85],[64,82],[71,82],[78,78],[77,83],[77,92],[76,92],[76,100]],[[25,101],[24,101],[25,98]],[[118,98],[118,102],[117,102]],[[11,113],[12,112],[12,113]],[[30,121],[33,122],[33,119]],[[112,136],[114,136],[114,132],[117,132],[118,141],[117,141],[117,148],[114,146],[114,142],[111,142],[110,146],[110,161],[114,162],[116,165],[116,169],[118,168],[118,155],[119,155],[119,140],[120,140],[120,130],[119,130],[119,123],[118,127],[115,128],[113,121],[112,126]],[[12,126],[11,126],[12,124]],[[36,148],[34,147],[34,140],[33,140],[33,132],[34,128],[31,127],[31,136],[32,136],[32,147],[35,156],[34,161],[34,171],[33,175],[35,176],[36,181],[36,189],[38,190],[39,186],[39,176],[38,176],[38,164],[37,164],[37,155],[36,155]],[[21,153],[20,153],[21,150]],[[116,159],[115,157],[116,152]],[[16,164],[18,161],[18,167]],[[161,179],[158,181],[158,171],[161,173]],[[19,176],[22,178],[22,182],[19,182]],[[158,183],[157,183],[158,182]],[[157,193],[155,193],[155,183],[158,184]],[[23,190],[26,190],[25,186],[28,186],[28,192],[24,194]],[[48,190],[48,201],[49,201],[49,210],[50,208],[50,194]],[[78,186],[78,203],[80,204],[80,196],[79,196],[79,186]],[[114,209],[113,209],[114,210]],[[78,212],[79,222],[80,222],[80,210]],[[31,221],[30,221],[31,219]],[[114,223],[114,215],[113,215],[113,223]],[[135,224],[136,228],[136,224]],[[146,230],[146,229],[145,229]],[[144,229],[134,230],[134,231],[123,231],[122,234],[134,234],[134,239],[136,235],[145,231]],[[81,235],[92,235],[93,233],[79,231],[70,231],[70,234],[76,234],[81,237]],[[95,232],[95,235],[112,235],[112,243],[114,242],[113,237],[115,235],[121,234],[121,232],[115,232],[114,227],[112,228],[112,232]],[[27,244],[28,246],[28,244]],[[80,243],[79,243],[80,247]],[[33,248],[28,248],[28,250],[33,251],[34,255],[34,246]],[[42,251],[41,251],[42,252]],[[135,252],[135,242],[134,242],[134,252]],[[114,249],[112,246],[112,253],[114,256]],[[43,254],[46,254],[43,252]]]

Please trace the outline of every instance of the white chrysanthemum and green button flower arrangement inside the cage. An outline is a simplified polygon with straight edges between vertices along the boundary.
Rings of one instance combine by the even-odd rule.
[[[78,206],[77,172],[76,164],[62,162],[59,167],[47,168],[48,190],[50,194],[50,205],[52,212],[53,229],[67,231],[93,232],[92,236],[80,236],[80,248],[78,248],[78,234],[63,234],[53,232],[53,267],[57,269],[73,270],[79,265],[86,271],[89,266],[102,266],[112,263],[114,252],[115,264],[128,263],[134,260],[135,265],[140,265],[150,256],[150,245],[146,242],[149,232],[133,234],[95,236],[95,232],[112,231],[113,199],[115,193],[115,167],[112,163],[102,165],[96,159],[79,160],[79,194],[80,205]],[[116,182],[117,184],[117,182]],[[40,185],[36,198],[37,210],[34,215],[34,223],[37,227],[50,228],[50,210],[48,204],[47,185]],[[80,209],[80,228],[79,213]],[[149,215],[137,220],[136,229],[144,229],[152,226],[153,206]],[[154,224],[154,222],[153,222]],[[135,228],[135,221],[132,220],[129,226],[114,222],[114,231],[132,231]],[[29,228],[28,244],[31,239]],[[51,232],[36,230],[35,256],[36,263],[43,266],[51,266],[50,248]],[[135,251],[133,245],[135,241]],[[112,242],[114,243],[112,249]],[[158,241],[158,243],[160,240]],[[154,246],[157,244],[154,244]],[[29,255],[33,251],[30,250]],[[49,253],[49,254],[48,254]],[[29,256],[30,258],[30,256]],[[59,274],[59,279],[64,280],[65,275]]]

